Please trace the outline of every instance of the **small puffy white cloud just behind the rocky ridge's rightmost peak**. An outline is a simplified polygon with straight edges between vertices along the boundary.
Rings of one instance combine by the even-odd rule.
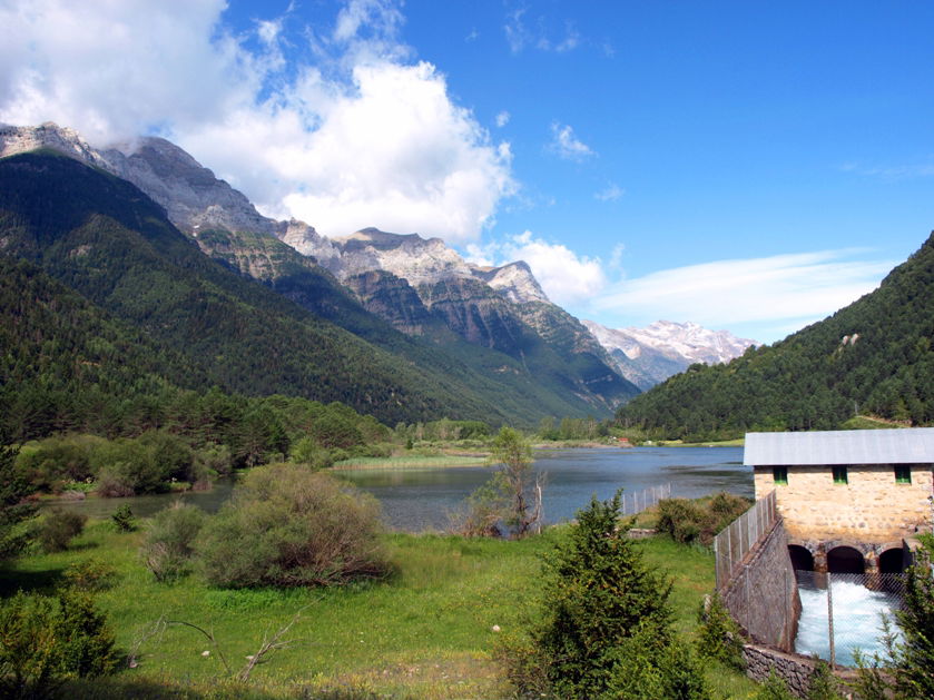
[[[476,265],[524,260],[548,297],[559,306],[588,299],[607,284],[600,258],[580,256],[564,245],[548,243],[528,230],[502,243],[468,246],[465,257]]]

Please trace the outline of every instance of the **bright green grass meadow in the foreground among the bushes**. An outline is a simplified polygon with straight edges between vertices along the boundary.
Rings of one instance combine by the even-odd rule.
[[[68,694],[76,699],[242,694],[243,689],[218,684],[223,668],[217,652],[198,632],[169,625],[145,638],[147,629],[160,618],[200,625],[239,669],[264,634],[297,613],[287,634],[295,643],[255,669],[254,697],[288,697],[311,688],[312,697],[335,699],[498,698],[507,689],[491,660],[498,638],[492,628],[508,632],[534,610],[539,555],[556,536],[550,531],[505,542],[392,534],[386,546],[394,573],[385,581],[330,590],[236,591],[210,589],[196,574],[158,584],[137,553],[141,532],[118,534],[109,523],[92,521],[69,551],[33,553],[0,571],[0,593],[19,588],[51,592],[69,564],[88,558],[117,569],[116,585],[98,593],[98,601],[119,647],[138,647],[139,667],[104,684],[73,684]],[[712,555],[662,538],[640,546],[651,564],[669,571],[676,629],[690,637],[697,608],[714,585]],[[206,650],[212,652],[207,657]],[[745,697],[754,688],[722,669],[711,669],[710,678],[724,697]]]

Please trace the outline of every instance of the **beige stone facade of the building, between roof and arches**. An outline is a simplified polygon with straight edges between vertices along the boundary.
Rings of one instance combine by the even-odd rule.
[[[783,485],[774,482],[770,466],[757,466],[756,496],[775,489],[793,543],[889,545],[930,522],[930,464],[912,465],[911,484],[896,483],[893,466],[885,464],[849,465],[847,484],[835,484],[829,466],[787,469]]]

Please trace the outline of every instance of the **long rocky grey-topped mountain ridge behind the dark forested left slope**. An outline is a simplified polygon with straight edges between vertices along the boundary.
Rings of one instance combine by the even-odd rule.
[[[489,381],[505,382],[500,391],[511,386],[528,400],[537,395],[532,401],[540,413],[606,415],[638,393],[586,328],[548,302],[524,263],[481,268],[440,239],[366,229],[331,240],[304,223],[274,221],[164,139],[139,139],[126,155],[95,150],[75,131],[51,124],[0,129],[0,156],[36,148],[52,148],[128,179],[215,259],[397,351],[400,341],[352,309],[347,294],[356,295],[366,310],[397,329],[425,337]],[[283,241],[313,257],[296,257]],[[534,312],[535,305],[549,313]],[[560,323],[542,328],[543,318]],[[570,337],[558,337],[557,328]],[[469,349],[464,341],[478,348]],[[423,354],[414,346],[404,352]]]

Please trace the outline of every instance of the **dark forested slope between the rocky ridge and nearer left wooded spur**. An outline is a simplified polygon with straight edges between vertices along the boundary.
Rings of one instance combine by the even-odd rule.
[[[181,355],[200,384],[341,401],[390,424],[507,420],[456,377],[415,367],[225,269],[135,186],[75,160],[0,160],[0,249]]]

